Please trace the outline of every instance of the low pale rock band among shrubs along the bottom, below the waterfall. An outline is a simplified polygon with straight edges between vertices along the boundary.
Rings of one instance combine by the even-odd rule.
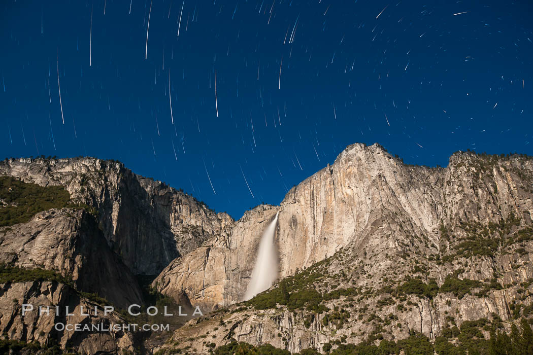
[[[530,290],[531,291],[531,290]],[[446,317],[454,318],[460,326],[465,320],[478,320],[508,315],[505,298],[514,294],[514,291],[498,291],[482,302],[477,296],[467,296],[461,300],[449,295],[439,296],[433,301],[409,299],[413,305],[403,312],[398,312],[397,304],[377,312],[379,319],[399,317],[394,323],[379,327],[377,334],[387,340],[400,340],[407,338],[411,332],[422,333],[431,339],[441,334],[445,325],[450,323]],[[341,302],[329,302],[331,309],[342,307]],[[447,313],[445,313],[447,312]],[[501,313],[500,313],[501,312]],[[342,327],[326,321],[328,313],[310,313],[302,310],[288,310],[286,307],[267,309],[262,311],[241,310],[228,312],[221,317],[204,320],[190,321],[188,325],[178,329],[167,343],[165,348],[194,349],[191,353],[207,353],[209,342],[216,346],[227,344],[231,339],[253,345],[272,344],[276,348],[286,349],[290,352],[300,352],[303,349],[322,349],[329,342],[344,339],[346,343],[359,344],[368,339],[369,334],[376,334],[376,324],[364,319],[358,319],[357,309],[351,314],[350,320]],[[453,315],[453,316],[447,316]],[[504,321],[512,319],[507,316]],[[306,325],[306,322],[309,322]],[[209,334],[206,342],[204,334]],[[172,346],[169,344],[179,344]]]

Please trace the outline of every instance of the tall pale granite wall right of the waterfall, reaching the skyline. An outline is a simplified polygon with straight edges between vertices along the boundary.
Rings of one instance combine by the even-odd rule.
[[[351,145],[281,202],[280,276],[350,242],[382,243],[398,221],[408,230],[389,243],[398,244],[394,239],[409,232],[439,245],[441,224],[487,224],[510,213],[527,222],[533,210],[532,168],[530,159],[483,159],[473,153],[456,153],[446,169],[406,166],[377,144]],[[377,229],[380,238],[369,240]]]

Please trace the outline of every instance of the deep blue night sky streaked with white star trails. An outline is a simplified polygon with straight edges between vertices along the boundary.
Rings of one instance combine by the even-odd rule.
[[[533,154],[530,1],[0,6],[0,158],[117,159],[239,218],[356,142]]]

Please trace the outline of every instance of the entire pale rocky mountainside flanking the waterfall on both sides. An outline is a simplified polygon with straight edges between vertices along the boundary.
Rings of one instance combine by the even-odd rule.
[[[279,211],[276,243],[280,279],[333,255],[321,271],[327,282],[310,286],[322,295],[336,287],[359,290],[356,294],[365,298],[358,302],[340,296],[324,304],[330,310],[343,307],[361,318],[350,318],[350,325],[345,323],[340,329],[324,326],[324,313],[313,316],[302,311],[300,318],[291,318],[284,306],[266,312],[230,313],[224,321],[238,325],[231,336],[228,329],[225,334],[221,329],[223,336],[216,337],[217,345],[234,337],[300,351],[306,346],[318,349],[318,345],[343,335],[348,342],[359,342],[375,331],[376,323],[368,321],[372,314],[379,319],[393,317],[389,327],[383,328],[383,336],[390,339],[408,336],[409,329],[434,339],[450,324],[447,315],[453,315],[458,325],[479,318],[511,321],[513,304],[527,306],[531,302],[531,287],[521,287],[520,283],[533,280],[529,258],[533,251],[529,238],[532,183],[533,160],[527,156],[458,152],[451,156],[447,168],[427,168],[403,164],[377,144],[351,145],[331,166],[291,189],[280,207],[259,207],[235,222],[229,241],[215,258],[205,253],[200,257],[194,251],[176,259],[159,275],[157,287],[166,294],[185,290],[201,295],[200,287],[207,284],[223,293],[216,299],[200,296],[191,300],[193,304],[212,302],[222,307],[238,302],[266,226],[258,222]],[[255,230],[240,228],[246,221]],[[516,242],[514,236],[519,234],[527,237]],[[490,250],[488,245],[492,245]],[[223,263],[218,255],[224,255]],[[187,267],[198,260],[200,269],[212,270],[210,274],[187,274]],[[216,278],[209,277],[211,274]],[[406,276],[417,276],[424,283],[434,279],[437,288],[447,277],[478,282],[479,287],[469,289],[472,294],[465,296],[446,292],[431,300],[422,295],[408,296],[411,305],[400,311],[398,304],[405,306],[406,300],[391,297],[397,295],[394,290]],[[487,286],[491,279],[491,286]],[[483,287],[484,294],[473,295]],[[349,302],[353,306],[347,306]],[[314,323],[306,328],[302,323],[309,317],[314,317]],[[203,333],[214,329],[207,321],[197,326]],[[194,338],[190,331],[180,329],[174,339],[184,339],[185,333],[187,339]],[[285,340],[278,339],[278,333],[285,334],[281,336]],[[200,339],[183,345],[198,351],[206,346]]]

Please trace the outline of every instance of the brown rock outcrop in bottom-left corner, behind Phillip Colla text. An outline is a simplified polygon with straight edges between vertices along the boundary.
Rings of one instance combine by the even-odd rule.
[[[26,309],[22,316],[23,304],[31,304],[34,309]],[[39,307],[43,309],[40,314]],[[48,314],[45,311],[47,307],[50,307]],[[56,307],[59,307],[59,315],[55,315]],[[66,316],[66,307],[71,316]],[[88,315],[82,315],[80,307]],[[94,307],[98,307],[96,315]],[[113,329],[113,325],[125,323],[115,312],[104,315],[101,305],[80,297],[61,283],[33,281],[0,285],[0,331],[8,339],[59,344],[63,349],[76,349],[79,353],[90,355],[133,353],[135,341],[132,332]],[[82,332],[74,328],[69,331],[69,325],[110,328],[110,331]]]

